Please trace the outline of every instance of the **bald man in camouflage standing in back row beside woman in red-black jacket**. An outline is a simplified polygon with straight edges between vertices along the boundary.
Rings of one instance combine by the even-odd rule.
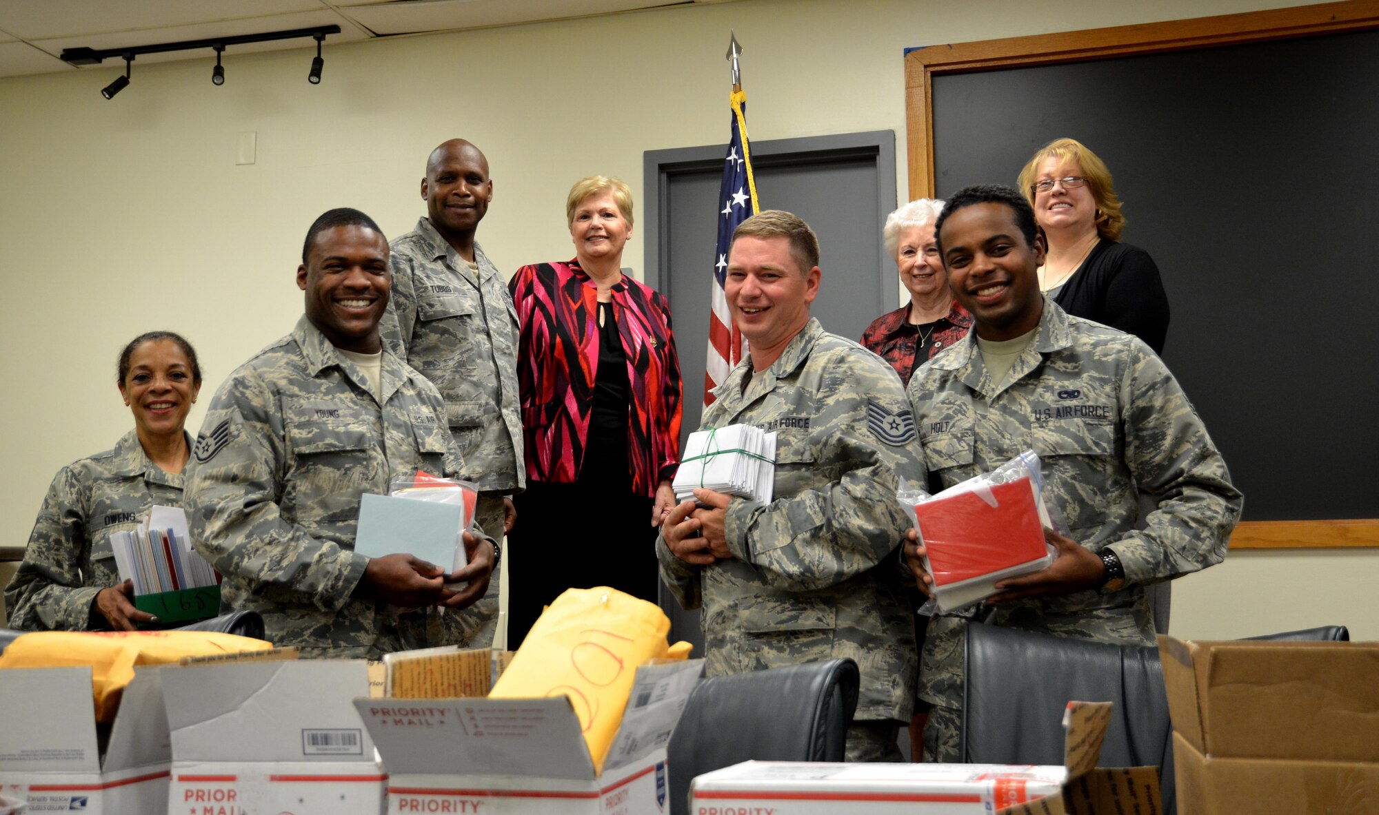
[[[480,490],[477,518],[503,538],[505,498],[525,486],[517,414],[517,311],[498,268],[474,241],[492,182],[477,147],[452,139],[426,162],[430,218],[392,242],[393,295],[383,341],[445,399],[445,420]],[[466,257],[467,256],[467,257]],[[510,501],[507,502],[510,505]],[[466,615],[469,642],[487,646],[498,618],[498,581]]]

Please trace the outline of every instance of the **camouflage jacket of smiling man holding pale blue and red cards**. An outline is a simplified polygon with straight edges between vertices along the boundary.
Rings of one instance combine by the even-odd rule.
[[[192,454],[188,520],[223,606],[261,613],[269,640],[308,657],[462,642],[455,611],[350,596],[368,563],[353,551],[360,496],[462,464],[434,385],[386,348],[382,391],[379,405],[303,317],[221,385]]]

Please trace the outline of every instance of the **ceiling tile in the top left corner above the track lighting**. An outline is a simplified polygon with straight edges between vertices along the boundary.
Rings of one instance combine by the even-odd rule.
[[[323,8],[321,0],[0,0],[0,29],[25,40],[52,40]]]

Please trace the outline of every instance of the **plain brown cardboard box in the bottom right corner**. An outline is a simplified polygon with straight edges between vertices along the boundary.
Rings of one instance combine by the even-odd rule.
[[[1379,644],[1158,647],[1182,815],[1379,812]]]

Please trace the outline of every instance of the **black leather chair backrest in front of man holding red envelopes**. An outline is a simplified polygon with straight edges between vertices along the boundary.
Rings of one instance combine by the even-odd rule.
[[[1175,811],[1172,720],[1157,647],[968,622],[963,761],[1062,764],[1067,702],[1114,702],[1103,767],[1160,768]]]

